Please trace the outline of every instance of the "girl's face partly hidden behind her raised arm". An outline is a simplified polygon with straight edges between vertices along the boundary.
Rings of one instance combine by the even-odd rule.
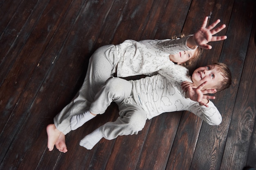
[[[169,58],[171,61],[175,62],[175,63],[185,63],[186,61],[188,61],[189,59],[191,59],[194,54],[195,54],[196,50],[191,50],[191,51],[182,51],[179,52],[177,54],[170,54]]]

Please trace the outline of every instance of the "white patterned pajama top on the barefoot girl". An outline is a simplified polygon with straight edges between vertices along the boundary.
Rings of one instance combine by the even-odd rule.
[[[157,72],[172,63],[169,58],[170,54],[195,50],[195,48],[191,49],[186,46],[190,36],[192,35],[180,39],[126,40],[116,45],[119,57],[117,76],[153,75],[151,73]]]

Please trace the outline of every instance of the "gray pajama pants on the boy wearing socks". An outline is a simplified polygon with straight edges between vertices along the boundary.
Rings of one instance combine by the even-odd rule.
[[[119,135],[133,135],[141,131],[147,120],[146,112],[133,99],[132,83],[121,78],[110,78],[101,87],[92,102],[90,111],[105,113],[112,101],[119,106],[119,117],[115,122],[107,122],[99,127],[101,135],[108,140]]]

